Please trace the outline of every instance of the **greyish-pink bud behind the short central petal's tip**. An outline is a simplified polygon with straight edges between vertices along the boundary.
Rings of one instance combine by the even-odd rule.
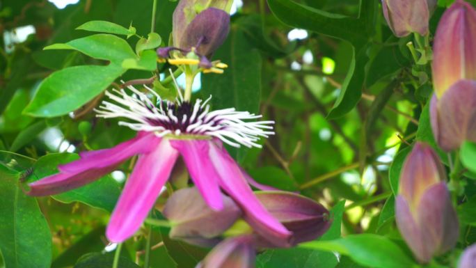
[[[212,210],[195,188],[176,191],[164,207],[164,216],[171,221],[170,238],[190,244],[210,246],[241,216],[241,210],[228,196],[223,196],[223,210]]]

